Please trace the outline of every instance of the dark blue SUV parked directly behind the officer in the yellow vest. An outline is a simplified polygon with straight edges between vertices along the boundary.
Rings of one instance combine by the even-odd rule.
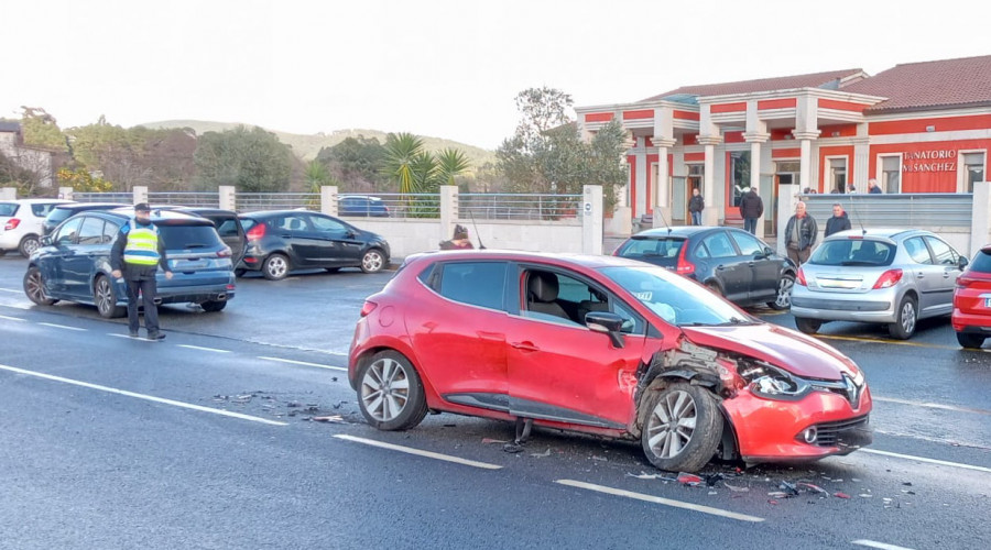
[[[110,273],[110,249],[133,209],[91,210],[73,216],[42,238],[28,261],[24,293],[48,306],[58,300],[92,304],[107,318],[127,315],[127,286]],[[220,311],[235,296],[230,249],[204,218],[167,210],[152,211],[152,222],[165,243],[174,276],[159,272],[160,304],[198,304]]]

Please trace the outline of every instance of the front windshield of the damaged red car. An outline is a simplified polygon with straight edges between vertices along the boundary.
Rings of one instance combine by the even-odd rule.
[[[752,324],[752,317],[663,267],[603,267],[602,273],[665,321],[678,327]]]

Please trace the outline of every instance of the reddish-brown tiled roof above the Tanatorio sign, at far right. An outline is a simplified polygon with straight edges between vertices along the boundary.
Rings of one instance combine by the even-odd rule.
[[[896,65],[843,91],[887,98],[868,113],[991,103],[991,55]]]

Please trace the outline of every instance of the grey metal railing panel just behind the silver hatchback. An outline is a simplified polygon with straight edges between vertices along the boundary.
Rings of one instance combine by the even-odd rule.
[[[853,227],[869,228],[969,228],[973,218],[973,194],[829,194],[802,195],[806,210],[825,227],[834,202],[847,211]]]

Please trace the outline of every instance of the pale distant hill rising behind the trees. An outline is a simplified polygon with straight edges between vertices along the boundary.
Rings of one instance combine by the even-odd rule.
[[[254,127],[254,124],[242,124],[239,122],[211,122],[203,120],[165,120],[161,122],[145,122],[139,125],[151,129],[192,128],[196,131],[196,135],[203,135],[207,132],[222,132],[225,130],[232,130],[239,125],[244,125],[248,128]],[[279,141],[291,146],[293,148],[293,153],[295,153],[296,156],[304,161],[312,161],[316,158],[317,153],[320,152],[320,147],[330,147],[337,145],[347,138],[358,138],[359,135],[363,135],[369,139],[377,138],[379,140],[379,143],[385,143],[386,135],[386,132],[382,132],[379,130],[335,130],[329,134],[318,133],[309,135],[280,132],[279,130],[270,130],[268,128],[265,130],[279,136]],[[429,151],[439,151],[446,147],[455,147],[464,151],[468,156],[468,160],[471,162],[472,168],[478,168],[487,162],[493,164],[496,163],[496,153],[493,151],[488,151],[481,147],[476,147],[442,138],[423,138],[423,143]]]

